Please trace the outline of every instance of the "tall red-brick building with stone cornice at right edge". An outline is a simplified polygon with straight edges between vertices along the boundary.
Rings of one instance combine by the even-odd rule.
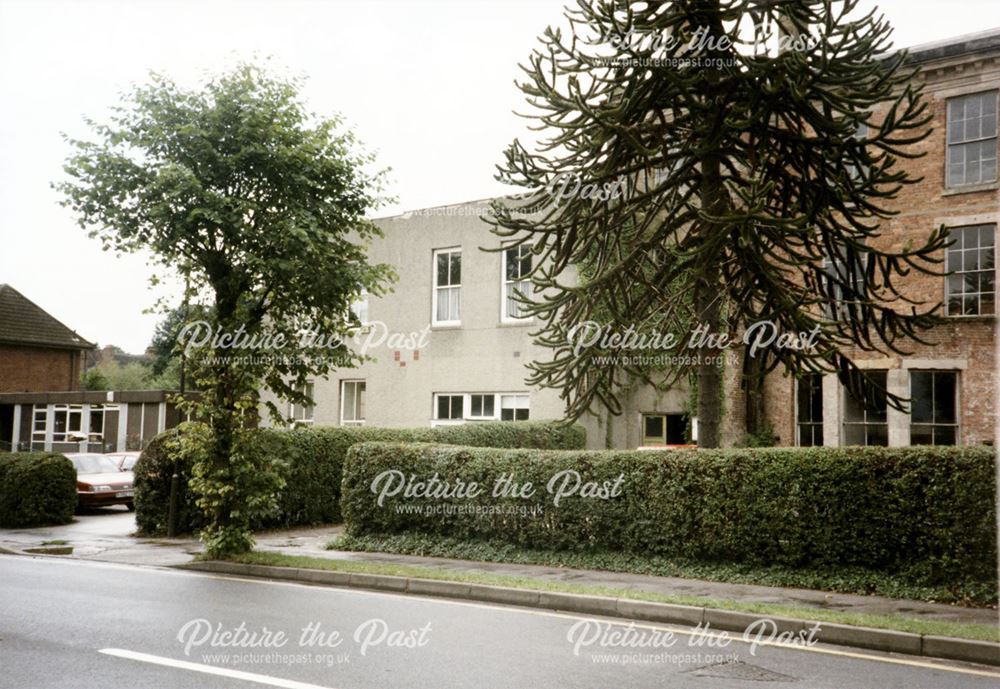
[[[982,444],[994,439],[1000,31],[918,46],[910,50],[910,60],[920,67],[933,132],[912,147],[923,157],[900,161],[922,181],[900,193],[899,214],[883,222],[878,241],[883,248],[902,250],[933,228],[948,228],[955,244],[942,258],[955,274],[911,274],[896,282],[910,298],[944,303],[947,323],[926,334],[932,345],[909,343],[906,356],[850,352],[889,392],[912,398],[910,414],[888,405],[863,410],[835,376],[796,382],[772,374],[765,385],[765,414],[783,445]],[[738,405],[733,412],[738,424]]]

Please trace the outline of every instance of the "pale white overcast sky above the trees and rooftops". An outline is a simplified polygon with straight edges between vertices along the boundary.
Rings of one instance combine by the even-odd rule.
[[[170,284],[146,257],[103,252],[51,188],[70,150],[150,71],[185,86],[270,58],[339,113],[397,200],[376,215],[501,194],[495,165],[530,138],[514,84],[565,0],[0,0],[0,283],[84,338],[139,353]],[[865,0],[912,46],[1000,27],[997,0]]]

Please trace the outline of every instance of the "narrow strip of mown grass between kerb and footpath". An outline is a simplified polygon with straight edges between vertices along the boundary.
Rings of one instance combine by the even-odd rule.
[[[432,569],[429,567],[418,567],[413,565],[361,562],[357,560],[333,560],[322,557],[286,555],[284,553],[266,551],[255,551],[244,555],[237,555],[229,558],[229,561],[254,565],[270,565],[273,567],[298,567],[302,569],[321,569],[333,572],[384,574],[397,577],[457,581],[468,584],[509,586],[534,591],[556,591],[561,593],[579,593],[592,596],[610,596],[613,598],[628,598],[633,600],[652,601],[655,603],[674,603],[680,605],[716,608],[720,610],[735,610],[738,612],[748,612],[762,616],[793,617],[797,619],[829,622],[834,624],[874,627],[876,629],[894,629],[914,634],[934,634],[959,639],[975,639],[978,641],[1000,641],[1000,631],[998,631],[997,627],[992,625],[922,620],[903,617],[900,615],[845,613],[835,610],[822,610],[818,608],[795,605],[748,603],[744,601],[708,599],[696,596],[674,596],[648,591],[635,591],[631,589],[604,586],[586,586],[582,584],[545,581],[542,579],[516,577],[503,574],[461,572],[454,570]]]

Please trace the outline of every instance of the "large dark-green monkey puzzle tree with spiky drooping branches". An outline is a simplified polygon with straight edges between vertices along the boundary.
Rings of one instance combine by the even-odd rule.
[[[886,20],[856,5],[581,0],[569,35],[544,33],[519,86],[547,138],[508,147],[500,179],[526,191],[496,202],[493,222],[536,253],[544,297],[528,311],[552,358],[529,383],[560,389],[569,416],[595,402],[618,413],[623,381],[657,374],[599,365],[620,347],[572,346],[581,322],[815,332],[809,348],[744,357],[742,375],[836,372],[866,405],[885,391],[846,352],[900,352],[937,322],[938,305],[894,279],[935,272],[944,229],[896,251],[877,242],[899,190],[918,181],[899,162],[930,115]],[[687,353],[696,363],[663,380],[693,375],[699,442],[717,446],[718,352]]]

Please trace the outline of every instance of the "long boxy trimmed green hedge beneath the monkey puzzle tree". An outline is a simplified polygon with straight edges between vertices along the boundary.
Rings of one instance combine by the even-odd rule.
[[[539,452],[366,443],[348,453],[342,509],[354,536],[422,533],[562,551],[853,565],[927,583],[995,585],[995,461],[985,447]],[[484,490],[475,498],[397,494],[380,507],[372,482],[392,470]],[[546,484],[565,470],[609,488],[623,476],[620,494],[555,506]],[[503,475],[537,490],[494,498]],[[464,512],[414,509],[441,504]]]

